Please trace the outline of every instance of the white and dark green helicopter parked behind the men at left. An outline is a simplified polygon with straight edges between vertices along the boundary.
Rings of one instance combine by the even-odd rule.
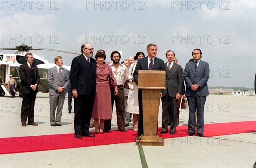
[[[5,54],[0,53],[0,64],[1,64],[1,76],[0,76],[0,96],[10,95],[8,81],[10,79],[10,75],[17,82],[17,90],[20,88],[20,76],[19,76],[19,67],[21,64],[26,63],[25,54],[32,53],[34,56],[33,64],[37,65],[38,72],[41,77],[40,83],[38,85],[39,92],[49,92],[49,84],[47,81],[48,69],[54,67],[55,64],[49,63],[41,53],[38,52],[29,52],[29,50],[48,50],[48,51],[56,51],[62,53],[71,53],[62,50],[53,50],[47,48],[32,48],[28,45],[20,45],[16,46],[16,48],[0,48],[0,50],[18,50],[14,54]],[[79,53],[72,53],[76,55],[80,55]],[[70,71],[70,66],[63,65],[68,71]],[[20,97],[22,95],[20,94]]]

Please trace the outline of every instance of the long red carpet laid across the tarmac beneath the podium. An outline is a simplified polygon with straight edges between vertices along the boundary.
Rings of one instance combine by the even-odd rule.
[[[161,128],[158,128],[161,131]],[[173,138],[185,137],[187,126],[177,126],[176,134],[159,134],[159,137]],[[220,136],[256,132],[256,121],[244,121],[234,123],[214,123],[204,125],[204,136]],[[94,134],[94,132],[92,133]],[[100,146],[118,143],[135,142],[137,132],[133,129],[128,132],[111,131],[105,134],[96,134],[96,137],[75,138],[74,134],[55,134],[30,137],[5,137],[0,138],[0,154],[13,154],[32,151],[47,151],[67,148],[80,148],[87,146]]]

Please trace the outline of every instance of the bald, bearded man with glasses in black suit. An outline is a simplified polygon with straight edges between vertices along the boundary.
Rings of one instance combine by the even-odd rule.
[[[75,137],[95,137],[90,134],[90,118],[96,93],[96,60],[92,58],[94,48],[90,43],[81,46],[81,55],[73,59],[70,83],[74,96]]]

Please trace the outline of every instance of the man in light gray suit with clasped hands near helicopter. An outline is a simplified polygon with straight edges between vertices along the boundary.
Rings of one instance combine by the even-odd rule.
[[[48,84],[50,96],[50,123],[51,126],[61,126],[62,108],[67,94],[67,86],[69,84],[69,77],[67,69],[61,67],[63,59],[61,56],[56,56],[54,59],[56,64],[48,71]],[[55,110],[58,106],[56,117]]]

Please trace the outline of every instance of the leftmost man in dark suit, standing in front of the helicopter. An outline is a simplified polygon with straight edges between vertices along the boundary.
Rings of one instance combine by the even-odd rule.
[[[38,92],[38,84],[40,76],[38,73],[38,67],[32,65],[34,56],[32,53],[26,53],[26,63],[20,65],[20,93],[22,94],[22,106],[20,112],[21,126],[26,126],[26,120],[28,125],[38,126],[34,122],[34,106],[35,98]]]

